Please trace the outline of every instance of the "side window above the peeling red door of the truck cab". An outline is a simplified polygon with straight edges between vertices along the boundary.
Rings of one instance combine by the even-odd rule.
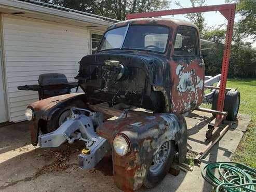
[[[197,56],[199,54],[198,36],[194,28],[180,27],[174,43],[174,56]]]

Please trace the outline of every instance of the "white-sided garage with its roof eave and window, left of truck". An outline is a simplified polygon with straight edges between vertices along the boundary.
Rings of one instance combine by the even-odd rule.
[[[24,120],[25,107],[38,100],[36,91],[17,86],[37,84],[43,73],[63,73],[75,81],[78,61],[117,22],[34,1],[3,0],[0,12],[0,122]]]

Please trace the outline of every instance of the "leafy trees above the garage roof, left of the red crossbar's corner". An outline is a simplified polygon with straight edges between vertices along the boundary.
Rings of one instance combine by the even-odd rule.
[[[41,0],[79,11],[125,20],[127,13],[168,9],[170,0]]]

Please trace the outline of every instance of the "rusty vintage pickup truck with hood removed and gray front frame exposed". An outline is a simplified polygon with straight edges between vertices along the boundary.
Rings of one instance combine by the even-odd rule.
[[[97,52],[79,63],[75,78],[84,93],[51,97],[26,108],[32,144],[58,147],[83,140],[79,168],[91,169],[111,153],[119,189],[156,186],[175,153],[179,162],[185,159],[184,116],[204,99],[197,26],[176,19],[122,21],[110,26]],[[227,95],[225,102],[233,102],[227,118],[234,120],[239,92]],[[118,118],[107,120],[113,116]]]

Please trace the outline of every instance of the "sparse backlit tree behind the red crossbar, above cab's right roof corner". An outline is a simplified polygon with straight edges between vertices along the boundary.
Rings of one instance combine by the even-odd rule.
[[[192,7],[201,7],[205,6],[206,0],[190,0],[190,2]],[[176,1],[175,4],[183,8],[180,2]],[[186,18],[189,19],[191,22],[195,23],[200,33],[203,32],[206,24],[203,12],[187,13]]]

